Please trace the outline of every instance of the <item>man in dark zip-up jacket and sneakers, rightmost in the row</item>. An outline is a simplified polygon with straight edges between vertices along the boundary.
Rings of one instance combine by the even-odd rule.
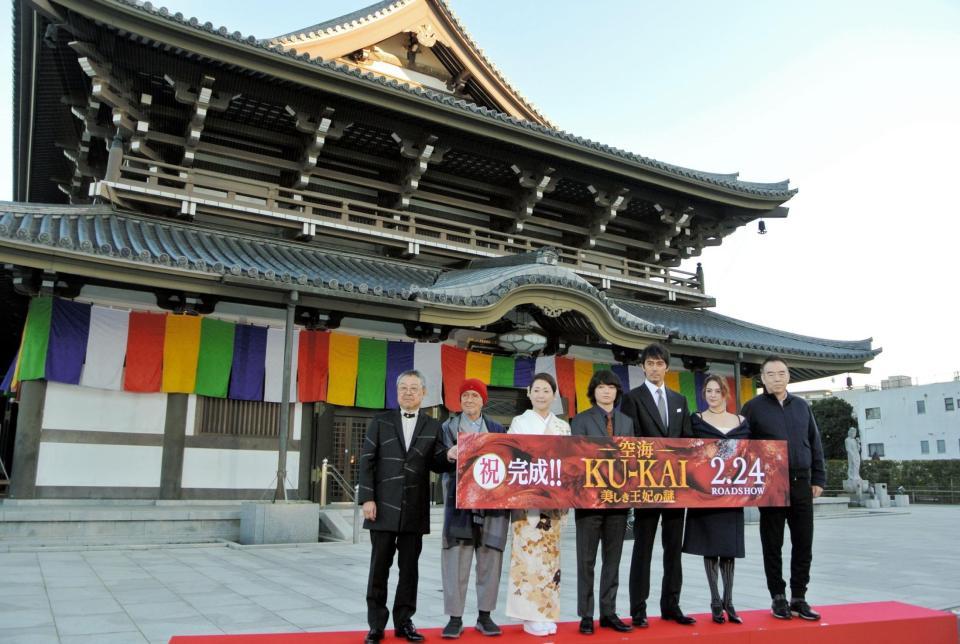
[[[790,505],[760,508],[760,544],[763,571],[773,598],[771,612],[779,619],[791,614],[818,620],[806,601],[813,561],[813,500],[823,492],[826,469],[820,431],[810,405],[787,392],[790,369],[783,358],[770,356],[760,367],[765,394],[748,401],[741,413],[750,423],[752,438],[787,441],[790,461]],[[783,580],[783,526],[790,525],[790,603]]]

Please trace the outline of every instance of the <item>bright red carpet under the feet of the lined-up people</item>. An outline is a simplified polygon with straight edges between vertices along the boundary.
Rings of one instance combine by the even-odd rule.
[[[840,604],[816,606],[823,615],[819,622],[801,619],[774,619],[767,610],[743,611],[743,624],[714,624],[709,614],[696,615],[695,626],[680,626],[658,617],[650,620],[650,628],[619,634],[597,628],[593,636],[577,631],[579,622],[564,622],[556,635],[534,637],[523,632],[519,624],[503,627],[498,638],[484,637],[468,626],[456,642],[463,644],[536,644],[567,642],[577,644],[612,644],[638,642],[646,644],[958,644],[957,618],[951,613],[920,608],[900,602]],[[439,628],[425,628],[430,644],[441,644]],[[182,635],[170,644],[360,644],[365,631],[325,633],[269,633],[262,635]],[[383,644],[405,644],[387,631]]]

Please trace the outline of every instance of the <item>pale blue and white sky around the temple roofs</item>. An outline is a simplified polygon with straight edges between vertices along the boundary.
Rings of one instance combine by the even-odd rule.
[[[960,371],[960,0],[448,0],[486,56],[561,129],[799,193],[703,263],[719,313],[883,352],[855,386]],[[154,2],[267,38],[364,0]],[[0,33],[11,33],[0,12]],[[11,123],[0,39],[0,123]],[[11,199],[0,130],[0,199]],[[839,388],[832,381],[799,389]]]

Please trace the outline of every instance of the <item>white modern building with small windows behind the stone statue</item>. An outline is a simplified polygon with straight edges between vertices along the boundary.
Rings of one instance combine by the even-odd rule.
[[[910,383],[909,378],[896,376],[884,380],[880,389],[834,393],[854,408],[863,457],[960,458],[960,381]]]

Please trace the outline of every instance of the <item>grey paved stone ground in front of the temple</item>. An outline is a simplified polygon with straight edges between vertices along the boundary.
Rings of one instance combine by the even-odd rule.
[[[899,600],[936,609],[960,607],[958,526],[957,506],[852,511],[848,517],[818,519],[808,598],[814,605]],[[621,563],[621,614],[628,612],[631,545],[626,542]],[[421,627],[446,622],[439,548],[436,533],[425,539],[416,615]],[[366,543],[327,543],[4,552],[0,642],[144,643],[167,642],[176,634],[365,630],[369,551]],[[576,619],[574,553],[571,519],[562,545],[564,620]],[[747,526],[747,553],[737,563],[736,606],[765,608],[769,597],[756,525]],[[654,567],[658,579],[659,565]],[[683,609],[709,610],[700,559],[684,555],[684,571]],[[471,590],[467,626],[475,615],[472,595]],[[654,595],[651,604],[656,603]],[[494,617],[510,622],[502,609]]]

